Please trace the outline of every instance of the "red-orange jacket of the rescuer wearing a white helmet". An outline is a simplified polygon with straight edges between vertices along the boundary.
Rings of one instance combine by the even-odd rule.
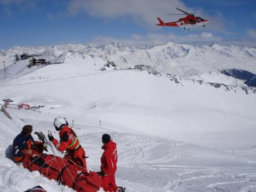
[[[52,140],[53,145],[59,151],[76,150],[80,146],[76,133],[67,125],[59,132],[59,138],[60,142],[56,139]]]

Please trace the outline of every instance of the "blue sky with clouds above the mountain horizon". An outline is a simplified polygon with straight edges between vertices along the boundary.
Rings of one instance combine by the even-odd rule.
[[[159,28],[175,7],[209,19],[207,28]],[[0,0],[0,49],[68,43],[154,41],[256,46],[255,0]]]

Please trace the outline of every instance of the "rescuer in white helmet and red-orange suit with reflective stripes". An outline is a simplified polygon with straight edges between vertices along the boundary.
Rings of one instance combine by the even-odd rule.
[[[51,134],[48,134],[48,138],[58,151],[66,151],[64,158],[67,158],[72,164],[81,166],[87,171],[86,152],[80,145],[76,133],[68,125],[65,118],[56,117],[54,126],[59,132],[60,142],[52,137]]]

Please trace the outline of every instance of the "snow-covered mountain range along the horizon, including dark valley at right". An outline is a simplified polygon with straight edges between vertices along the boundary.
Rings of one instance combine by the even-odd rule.
[[[0,62],[6,66],[14,63],[14,55],[39,54],[41,58],[57,63],[92,64],[97,70],[106,68],[107,63],[112,69],[133,69],[135,65],[148,65],[149,70],[160,74],[172,74],[180,78],[202,80],[206,83],[225,85],[255,86],[256,85],[256,48],[239,46],[195,46],[188,44],[151,44],[144,47],[132,47],[126,44],[82,45],[67,44],[52,47],[12,47],[0,51]],[[19,74],[28,61],[21,61],[22,67],[11,67],[7,74],[0,78]],[[96,67],[97,66],[97,67]],[[3,67],[3,65],[2,65]],[[18,69],[17,72],[13,70]],[[22,68],[22,69],[21,69]],[[31,70],[31,69],[29,69]],[[34,70],[34,69],[32,69]],[[240,75],[237,75],[240,71]],[[27,69],[23,74],[27,73]],[[13,78],[13,77],[12,77]]]

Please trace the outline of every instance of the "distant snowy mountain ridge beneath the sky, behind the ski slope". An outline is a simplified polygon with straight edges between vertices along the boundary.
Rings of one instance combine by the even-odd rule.
[[[0,62],[5,61],[6,65],[10,65],[13,63],[13,56],[23,52],[39,54],[44,59],[54,62],[64,62],[64,55],[77,52],[72,57],[78,59],[81,54],[84,54],[107,58],[114,62],[117,69],[134,68],[135,65],[149,65],[150,70],[179,77],[209,77],[209,75],[202,74],[214,74],[213,72],[229,69],[244,70],[256,74],[256,48],[245,46],[220,46],[218,44],[195,46],[175,44],[174,42],[165,44],[155,42],[140,47],[117,43],[99,45],[67,44],[52,47],[16,46],[9,50],[0,50]],[[67,60],[70,60],[70,58],[66,58]],[[72,60],[76,62],[76,59],[73,58]],[[222,74],[225,73],[222,72]],[[232,76],[227,73],[225,75]],[[240,80],[247,81],[249,79]],[[248,85],[254,85],[254,83],[250,82]]]

